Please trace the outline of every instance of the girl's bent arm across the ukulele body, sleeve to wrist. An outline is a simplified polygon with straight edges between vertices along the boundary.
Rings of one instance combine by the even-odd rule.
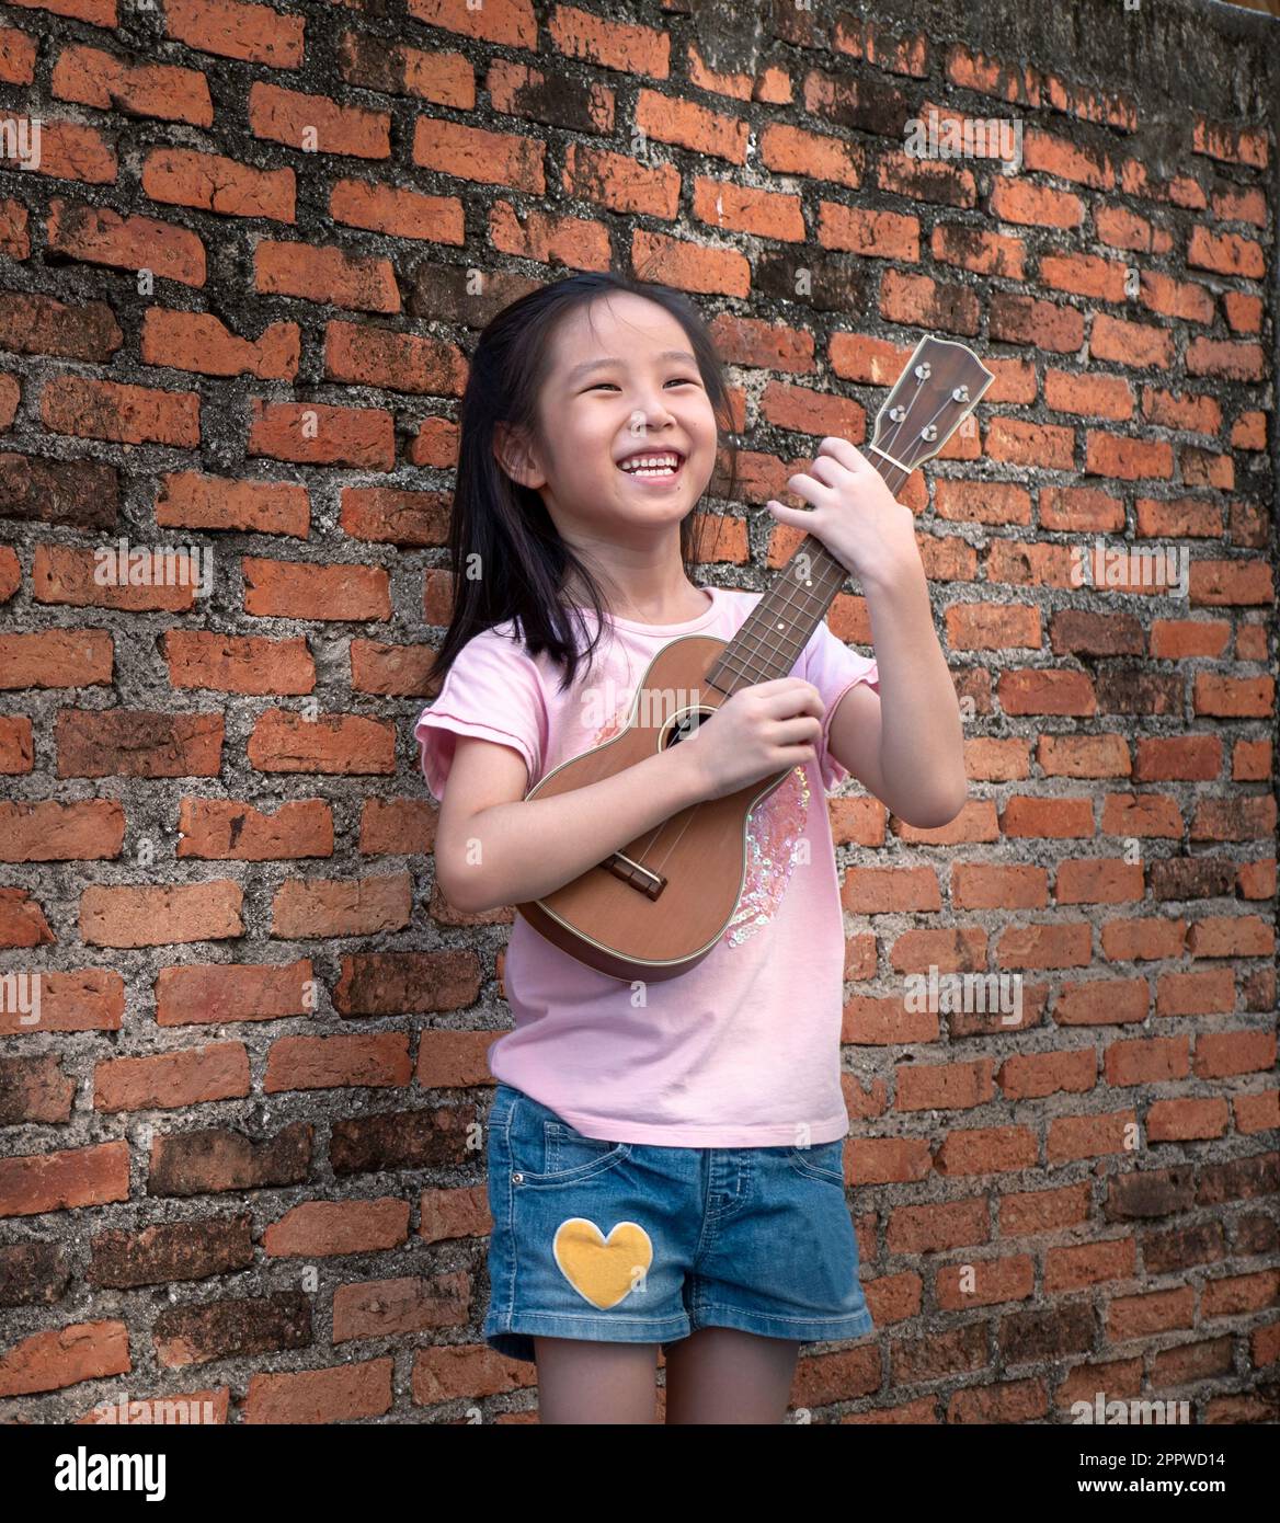
[[[527,790],[518,751],[459,737],[436,825],[436,882],[463,914],[541,899],[706,797],[689,745],[568,793],[526,801]]]

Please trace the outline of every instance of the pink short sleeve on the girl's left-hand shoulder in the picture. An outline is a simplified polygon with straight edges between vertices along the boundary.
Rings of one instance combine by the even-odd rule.
[[[510,746],[524,758],[529,787],[541,777],[547,714],[538,670],[514,638],[486,629],[454,656],[434,702],[422,710],[413,736],[431,797],[440,801],[459,736]]]

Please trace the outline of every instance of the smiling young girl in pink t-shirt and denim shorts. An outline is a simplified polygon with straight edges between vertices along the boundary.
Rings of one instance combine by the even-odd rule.
[[[690,576],[731,428],[692,303],[613,274],[501,311],[462,402],[454,612],[414,731],[445,899],[475,914],[536,900],[699,800],[791,769],[751,813],[733,923],[678,978],[623,982],[515,917],[515,1030],[489,1049],[483,1331],[536,1360],[544,1422],[652,1422],[658,1345],[669,1422],[780,1422],[802,1343],[873,1331],[846,1203],[824,789],[853,771],[937,825],[965,777],[911,512],[852,445],[824,440],[789,478],[812,510],[770,509],[856,571],[879,666],[820,624],[791,676],[733,693],[690,742],[524,801],[626,723],[667,641],[728,641],[759,602]]]

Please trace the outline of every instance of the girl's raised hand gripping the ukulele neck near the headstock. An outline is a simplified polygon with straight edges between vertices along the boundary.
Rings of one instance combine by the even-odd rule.
[[[765,507],[779,522],[821,539],[864,588],[919,567],[916,515],[847,439],[824,439],[809,471],[788,477],[786,484],[814,506],[786,507],[770,498]]]

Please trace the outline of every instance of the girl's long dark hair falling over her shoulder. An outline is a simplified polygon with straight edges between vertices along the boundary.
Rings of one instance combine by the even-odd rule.
[[[738,484],[738,449],[728,437],[733,410],[719,355],[701,314],[680,291],[611,271],[568,276],[529,291],[485,326],[471,356],[462,396],[459,458],[450,519],[448,553],[453,573],[453,617],[431,667],[430,687],[443,681],[459,650],[472,635],[506,620],[530,655],[547,650],[564,667],[561,688],[573,682],[605,631],[599,583],[582,559],[561,539],[546,504],[532,487],[520,486],[494,455],[495,425],[524,428],[538,437],[538,396],[550,369],[552,338],[564,317],[611,292],[657,302],[684,329],[712,410],[719,443],[728,455],[727,496]],[[680,557],[693,579],[698,504],[680,521]],[[478,557],[478,559],[472,559]],[[475,565],[480,576],[468,576]],[[562,600],[568,573],[576,573],[596,614],[594,638],[581,612]]]

